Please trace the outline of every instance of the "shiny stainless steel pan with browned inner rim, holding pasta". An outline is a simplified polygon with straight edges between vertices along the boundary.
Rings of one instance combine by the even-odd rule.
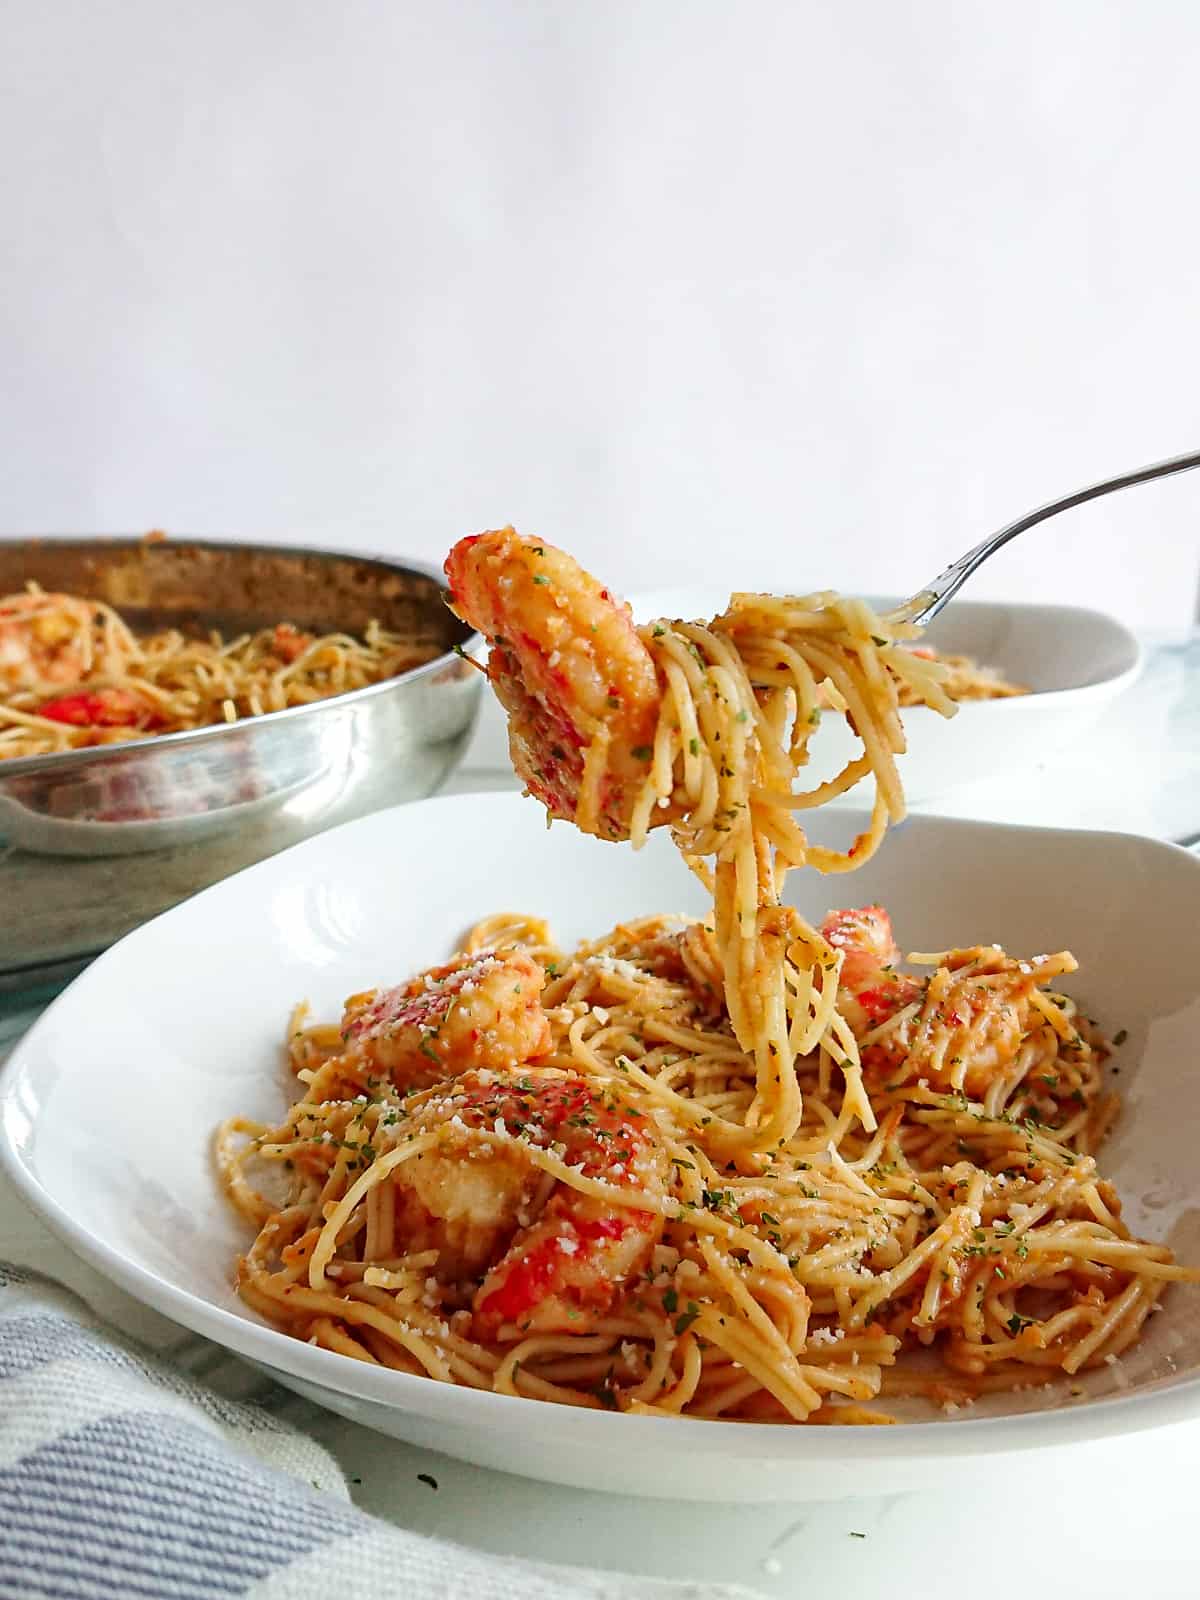
[[[461,758],[480,674],[438,574],[366,557],[213,541],[0,541],[27,579],[107,600],[134,630],[371,618],[443,654],[387,683],[245,722],[0,762],[0,989],[90,958],[205,885],[334,822],[432,794]]]

